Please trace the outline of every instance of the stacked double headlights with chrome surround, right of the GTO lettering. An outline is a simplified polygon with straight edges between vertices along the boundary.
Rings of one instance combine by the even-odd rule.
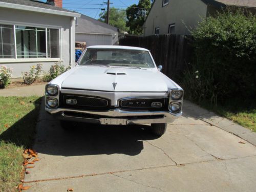
[[[183,103],[183,90],[182,89],[170,90],[168,110],[173,114],[182,113],[181,112],[182,103]]]

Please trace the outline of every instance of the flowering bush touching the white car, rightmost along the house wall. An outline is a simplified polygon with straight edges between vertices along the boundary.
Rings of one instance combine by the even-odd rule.
[[[65,65],[62,65],[61,62],[55,62],[55,65],[50,67],[50,70],[48,73],[45,73],[42,77],[42,80],[45,82],[49,82],[52,79],[56,78],[60,74],[68,71],[71,67],[65,67]]]

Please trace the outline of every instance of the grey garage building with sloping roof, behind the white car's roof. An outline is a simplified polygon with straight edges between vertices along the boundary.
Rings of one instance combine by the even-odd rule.
[[[86,15],[76,20],[76,41],[86,41],[87,46],[116,45],[118,28]]]

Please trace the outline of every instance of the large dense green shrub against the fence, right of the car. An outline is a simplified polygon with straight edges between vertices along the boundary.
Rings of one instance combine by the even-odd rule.
[[[182,81],[189,99],[216,105],[230,98],[253,98],[256,17],[228,10],[202,19],[191,34],[195,59]]]

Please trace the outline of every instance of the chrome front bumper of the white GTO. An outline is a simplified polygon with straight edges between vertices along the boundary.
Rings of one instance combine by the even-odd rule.
[[[81,121],[81,122],[91,122],[91,123],[101,123],[102,118],[118,118],[125,119],[125,124],[151,124],[151,123],[168,123],[173,122],[176,118],[182,115],[182,112],[179,114],[174,114],[168,111],[156,111],[156,112],[147,112],[147,111],[124,111],[120,109],[114,109],[109,111],[83,111],[83,110],[72,110],[65,108],[49,109],[46,107],[46,111],[50,114],[53,114],[58,119],[70,120],[70,121]],[[65,112],[72,112],[72,115],[65,114]],[[75,114],[83,114],[81,117]],[[86,117],[89,115],[89,117]],[[162,117],[155,117],[155,116]],[[93,117],[97,116],[97,117]],[[130,118],[129,118],[130,117]],[[136,119],[134,118],[136,117]]]

